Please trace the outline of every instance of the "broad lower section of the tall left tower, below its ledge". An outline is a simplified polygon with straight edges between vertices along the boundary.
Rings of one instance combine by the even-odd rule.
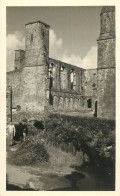
[[[45,106],[45,72],[43,66],[25,67],[22,72],[24,112],[39,112]]]

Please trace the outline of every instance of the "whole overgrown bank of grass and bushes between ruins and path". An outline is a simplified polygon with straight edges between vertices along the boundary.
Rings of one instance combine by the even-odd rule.
[[[12,151],[7,147],[8,164],[59,170],[63,175],[70,168],[89,165],[92,172],[101,170],[114,179],[115,121],[51,115],[44,123],[27,126],[26,141]]]

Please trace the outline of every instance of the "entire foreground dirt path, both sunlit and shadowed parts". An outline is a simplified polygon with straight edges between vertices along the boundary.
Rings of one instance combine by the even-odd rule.
[[[9,148],[12,152],[18,145]],[[8,152],[9,154],[9,152]],[[51,167],[49,165],[16,166],[7,161],[7,190],[38,191],[103,191],[114,190],[111,176],[92,172],[90,169],[72,168],[70,166]],[[99,169],[98,169],[99,170]],[[111,178],[111,179],[110,179]]]

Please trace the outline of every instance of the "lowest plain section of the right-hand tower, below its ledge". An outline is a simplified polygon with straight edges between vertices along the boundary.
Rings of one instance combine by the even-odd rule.
[[[115,68],[98,70],[98,117],[115,119]]]

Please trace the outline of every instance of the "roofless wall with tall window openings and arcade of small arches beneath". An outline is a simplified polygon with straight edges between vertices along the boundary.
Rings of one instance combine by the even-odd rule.
[[[57,111],[81,110],[84,107],[83,69],[50,58],[49,72],[49,79],[52,78],[53,81],[50,90],[53,102],[50,108]],[[74,73],[73,81],[70,78],[71,72]]]

